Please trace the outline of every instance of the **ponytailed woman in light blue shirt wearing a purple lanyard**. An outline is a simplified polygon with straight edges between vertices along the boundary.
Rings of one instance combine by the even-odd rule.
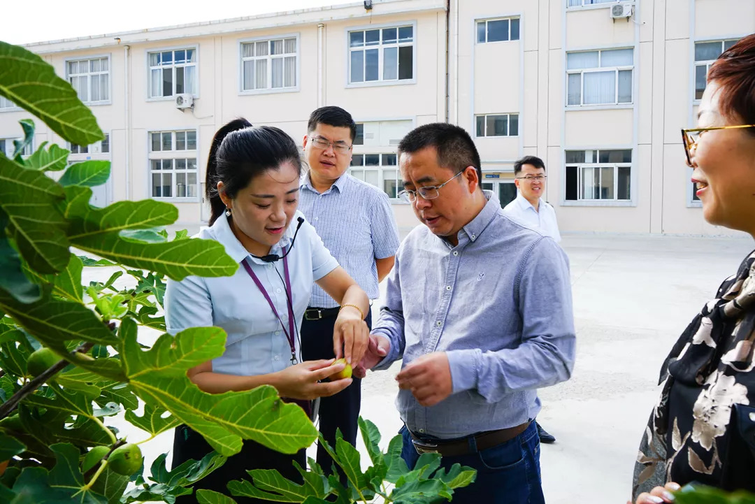
[[[169,333],[217,326],[228,334],[223,355],[189,370],[190,380],[205,392],[272,385],[306,409],[307,401],[350,385],[350,378],[320,383],[344,364],[301,362],[299,327],[313,282],[341,300],[333,334],[337,357],[359,361],[365,352],[367,295],[297,211],[300,172],[297,146],[278,128],[252,128],[238,119],[213,139],[207,172],[212,215],[199,238],[220,241],[241,267],[231,277],[168,281],[165,293]],[[201,435],[187,426],[176,429],[173,467],[210,451]],[[278,469],[297,479],[294,460],[304,466],[304,450],[291,456],[245,441],[241,453],[195,488],[227,493],[227,482],[248,478],[248,469]],[[177,502],[196,500],[186,496]]]

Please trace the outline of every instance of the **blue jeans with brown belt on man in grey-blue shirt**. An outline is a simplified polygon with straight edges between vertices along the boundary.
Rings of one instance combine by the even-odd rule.
[[[401,458],[413,469],[419,454],[411,444],[406,427]],[[430,441],[432,438],[427,438]],[[423,441],[425,441],[423,439]],[[540,438],[535,421],[516,438],[482,451],[461,456],[444,456],[441,466],[455,463],[477,469],[477,478],[468,487],[454,490],[454,504],[544,504],[540,478]],[[445,502],[445,499],[443,500]]]

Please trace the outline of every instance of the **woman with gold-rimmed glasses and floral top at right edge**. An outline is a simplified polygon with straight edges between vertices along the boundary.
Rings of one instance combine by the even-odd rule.
[[[698,126],[683,130],[705,220],[755,238],[755,35],[707,75]],[[755,491],[755,252],[719,287],[661,367],[643,433],[636,504],[673,502],[689,483]]]

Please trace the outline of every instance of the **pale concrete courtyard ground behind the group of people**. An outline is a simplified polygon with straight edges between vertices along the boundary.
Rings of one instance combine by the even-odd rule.
[[[572,267],[578,355],[571,380],[540,391],[538,421],[557,440],[542,447],[545,498],[624,504],[639,438],[660,392],[661,362],[755,245],[750,238],[564,235],[562,246]],[[104,279],[109,271],[92,274]],[[401,425],[393,407],[399,369],[396,363],[363,382],[362,416],[378,426],[383,447]],[[116,424],[130,441],[146,437]],[[171,444],[172,432],[146,444],[147,467]]]

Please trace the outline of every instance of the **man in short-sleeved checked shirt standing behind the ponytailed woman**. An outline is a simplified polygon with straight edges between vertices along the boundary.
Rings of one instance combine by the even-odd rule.
[[[316,109],[304,137],[304,158],[310,166],[300,190],[299,210],[315,227],[325,247],[365,290],[370,299],[393,268],[399,234],[388,195],[347,174],[356,124],[350,113],[337,106]],[[305,361],[333,358],[333,325],[340,306],[315,285],[301,325],[301,353]],[[371,310],[365,315],[372,325]],[[356,363],[353,363],[356,364]],[[335,447],[336,429],[356,444],[357,418],[362,399],[361,380],[336,395],[322,398],[319,429]],[[317,462],[328,472],[331,459],[322,447]]]

